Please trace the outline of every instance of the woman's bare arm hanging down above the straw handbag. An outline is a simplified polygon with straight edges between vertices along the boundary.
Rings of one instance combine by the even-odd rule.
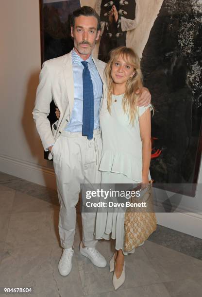
[[[151,110],[148,108],[139,117],[140,137],[142,140],[142,183],[149,183],[149,169],[151,161]]]

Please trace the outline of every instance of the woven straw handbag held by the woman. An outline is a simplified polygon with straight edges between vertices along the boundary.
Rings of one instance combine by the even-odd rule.
[[[153,211],[152,181],[140,193],[139,198],[131,197],[130,202],[146,202],[146,207],[129,206],[125,213],[124,246],[126,252],[131,251],[147,240],[157,227],[156,215]]]

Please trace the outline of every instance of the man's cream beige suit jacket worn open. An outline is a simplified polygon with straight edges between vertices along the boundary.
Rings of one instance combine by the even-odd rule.
[[[103,82],[103,90],[105,91],[104,68],[106,64],[95,58],[93,58],[93,61],[98,69]],[[50,102],[52,99],[60,110],[60,118],[52,125],[51,129],[47,116],[50,114]],[[40,72],[33,117],[45,150],[55,143],[60,133],[67,126],[73,105],[74,81],[70,51],[64,56],[44,62]],[[51,153],[49,154],[49,159],[52,159]]]

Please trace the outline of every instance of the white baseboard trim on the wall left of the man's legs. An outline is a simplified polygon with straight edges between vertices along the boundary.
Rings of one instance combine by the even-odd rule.
[[[50,162],[50,161],[47,161]],[[52,189],[56,189],[53,168],[0,154],[0,171]]]

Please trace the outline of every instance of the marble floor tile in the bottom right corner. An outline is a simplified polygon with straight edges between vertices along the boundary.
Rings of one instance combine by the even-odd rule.
[[[194,279],[164,283],[171,297],[202,297],[202,274]]]

